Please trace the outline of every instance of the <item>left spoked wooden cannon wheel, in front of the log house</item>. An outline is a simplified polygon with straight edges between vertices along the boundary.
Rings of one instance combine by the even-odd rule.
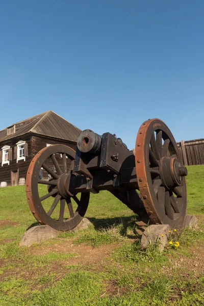
[[[77,226],[89,203],[88,192],[81,193],[80,199],[69,192],[74,159],[75,151],[70,147],[48,146],[33,158],[27,173],[27,199],[34,217],[58,231],[70,231]],[[39,179],[41,167],[47,181]]]

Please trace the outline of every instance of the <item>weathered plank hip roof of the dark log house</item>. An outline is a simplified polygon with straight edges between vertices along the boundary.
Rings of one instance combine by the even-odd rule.
[[[8,127],[13,125],[15,125],[15,133],[7,136]],[[74,126],[51,110],[9,126],[6,127],[6,129],[0,131],[0,142],[27,133],[77,141],[77,138],[81,132],[78,127]]]

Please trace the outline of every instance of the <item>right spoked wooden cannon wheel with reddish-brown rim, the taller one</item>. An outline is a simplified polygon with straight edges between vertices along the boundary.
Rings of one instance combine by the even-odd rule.
[[[138,131],[135,162],[144,207],[154,223],[182,226],[187,208],[187,169],[166,124],[145,121]]]

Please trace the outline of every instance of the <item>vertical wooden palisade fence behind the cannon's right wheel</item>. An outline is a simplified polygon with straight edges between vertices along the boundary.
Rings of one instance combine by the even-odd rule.
[[[185,166],[204,165],[204,139],[177,142]]]

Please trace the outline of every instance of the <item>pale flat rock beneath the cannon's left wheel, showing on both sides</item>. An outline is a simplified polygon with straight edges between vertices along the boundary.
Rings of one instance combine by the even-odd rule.
[[[92,223],[87,218],[83,218],[82,221],[70,232],[84,230],[90,224]],[[54,230],[54,228],[50,227],[49,225],[37,225],[31,227],[27,232],[24,233],[20,240],[19,246],[30,247],[34,243],[40,243],[42,241],[55,238],[60,233],[62,232]]]

